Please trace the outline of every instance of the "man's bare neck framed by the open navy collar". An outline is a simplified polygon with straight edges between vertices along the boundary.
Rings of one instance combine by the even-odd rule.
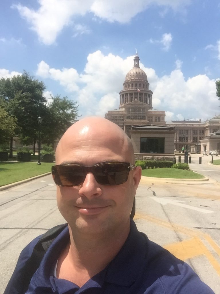
[[[123,229],[101,235],[85,235],[69,227],[70,244],[58,260],[57,277],[81,286],[103,270],[125,243],[130,221]]]

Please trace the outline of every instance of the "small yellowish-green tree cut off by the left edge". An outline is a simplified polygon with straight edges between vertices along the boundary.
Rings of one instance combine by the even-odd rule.
[[[16,125],[16,118],[12,117],[0,107],[0,144],[9,142],[13,136]]]

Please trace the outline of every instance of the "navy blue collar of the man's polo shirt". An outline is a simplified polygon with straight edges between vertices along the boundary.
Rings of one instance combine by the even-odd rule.
[[[48,248],[38,270],[33,275],[31,283],[39,287],[51,287],[51,270],[53,270],[58,256],[69,240],[70,235],[67,226]],[[109,265],[91,280],[100,286],[103,285],[104,281],[122,286],[133,284],[145,264],[146,242],[146,236],[144,237],[143,234],[138,232],[134,221],[131,220],[130,232],[121,250]]]

